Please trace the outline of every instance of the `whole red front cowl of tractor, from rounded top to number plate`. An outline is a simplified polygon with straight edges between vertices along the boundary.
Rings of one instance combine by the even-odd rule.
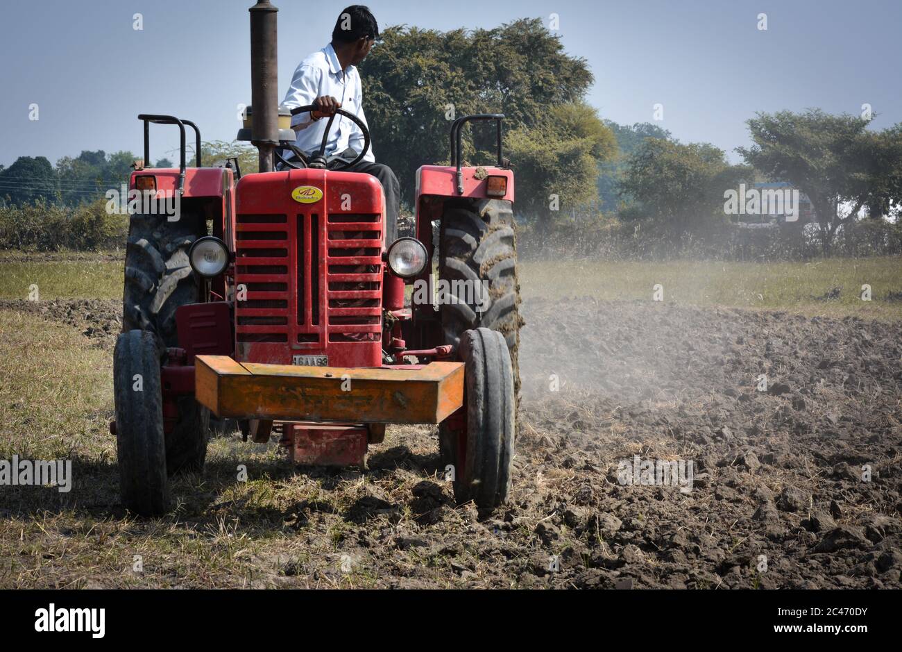
[[[294,199],[309,187],[321,198]],[[237,359],[382,364],[383,206],[382,186],[369,174],[293,170],[238,182]]]

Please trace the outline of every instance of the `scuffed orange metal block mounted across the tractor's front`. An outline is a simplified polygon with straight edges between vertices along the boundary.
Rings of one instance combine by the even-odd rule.
[[[198,403],[220,417],[352,424],[439,424],[464,405],[464,365],[336,368],[195,358]]]

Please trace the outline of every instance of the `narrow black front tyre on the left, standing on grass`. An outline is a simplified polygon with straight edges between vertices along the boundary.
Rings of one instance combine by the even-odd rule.
[[[158,340],[149,331],[122,333],[113,354],[119,493],[125,508],[144,517],[169,508],[160,356]]]

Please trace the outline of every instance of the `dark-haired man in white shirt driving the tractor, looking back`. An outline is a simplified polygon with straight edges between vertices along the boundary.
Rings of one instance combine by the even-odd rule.
[[[321,118],[334,116],[336,108],[354,114],[364,125],[364,91],[356,65],[364,61],[379,37],[379,25],[370,10],[363,5],[347,7],[336,21],[332,42],[301,61],[291,87],[282,103],[285,107],[304,107],[316,104],[318,111],[301,113],[291,118],[291,128],[297,132],[295,146],[304,154],[318,150],[326,122]],[[329,132],[326,156],[353,161],[364,147],[364,135],[352,120],[336,116]],[[286,152],[286,159],[290,152]],[[372,174],[382,183],[385,192],[386,241],[392,242],[397,233],[400,210],[398,178],[384,163],[376,163],[373,148],[360,163],[347,172]]]

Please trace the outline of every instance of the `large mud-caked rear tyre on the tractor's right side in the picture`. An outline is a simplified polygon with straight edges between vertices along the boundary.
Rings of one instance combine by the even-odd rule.
[[[479,200],[450,205],[441,220],[440,279],[451,282],[440,295],[442,329],[446,344],[458,346],[465,331],[488,328],[504,336],[511,353],[514,396],[520,396],[520,284],[517,279],[517,244],[510,201]],[[462,284],[487,284],[488,297],[462,293]],[[474,301],[475,300],[475,301]]]

